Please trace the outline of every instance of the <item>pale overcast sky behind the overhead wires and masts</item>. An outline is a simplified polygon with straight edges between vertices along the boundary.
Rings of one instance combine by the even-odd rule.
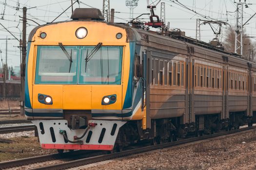
[[[75,1],[75,0],[73,0]],[[103,0],[79,0],[80,3],[74,4],[75,8],[98,8],[102,10]],[[127,23],[130,20],[130,8],[126,6],[126,0],[110,0],[110,8],[115,9],[115,22]],[[133,17],[138,17],[143,13],[150,13],[147,9],[148,4],[156,5],[159,0],[138,0],[138,6],[134,8]],[[155,14],[160,17],[161,2],[165,3],[165,19],[169,22],[170,29],[179,28],[186,32],[186,36],[196,38],[196,21],[198,18],[207,20],[224,21],[234,26],[236,23],[236,1],[239,0],[161,0],[156,7]],[[244,2],[244,0],[241,0]],[[0,0],[0,23],[20,39],[22,32],[22,8],[26,6],[27,18],[32,19],[40,25],[51,22],[59,16],[71,4],[71,0]],[[256,13],[256,0],[246,0],[248,8],[243,13],[245,23]],[[20,16],[20,17],[19,17]],[[70,20],[71,8],[63,13],[55,21]],[[139,17],[142,21],[149,21],[149,15]],[[27,37],[30,31],[38,24],[27,21]],[[213,25],[217,28],[217,25]],[[256,16],[253,17],[245,26],[248,36],[256,36]],[[224,34],[230,26],[222,26],[220,40],[224,41]],[[152,29],[153,30],[153,29]],[[209,25],[200,26],[201,40],[209,42],[215,35]],[[0,59],[5,63],[6,40],[14,38],[0,25]],[[253,42],[255,37],[251,38]],[[234,42],[235,43],[235,42]],[[7,40],[7,64],[8,66],[20,66],[19,41],[16,39]]]

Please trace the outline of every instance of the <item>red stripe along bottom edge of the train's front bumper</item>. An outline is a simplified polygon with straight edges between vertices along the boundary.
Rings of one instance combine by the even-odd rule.
[[[79,144],[41,144],[43,149],[68,149],[68,150],[105,150],[111,151],[113,145],[79,145]]]

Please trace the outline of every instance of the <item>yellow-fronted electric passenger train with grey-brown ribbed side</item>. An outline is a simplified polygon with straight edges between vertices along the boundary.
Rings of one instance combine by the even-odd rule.
[[[94,8],[33,29],[25,75],[25,115],[43,149],[121,151],[256,122],[255,63]]]

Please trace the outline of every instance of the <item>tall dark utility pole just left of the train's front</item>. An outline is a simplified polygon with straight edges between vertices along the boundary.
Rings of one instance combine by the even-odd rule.
[[[26,25],[27,25],[27,8],[23,7],[23,24],[22,24],[22,59],[20,64],[20,79],[21,79],[21,93],[20,93],[20,114],[24,115],[24,101],[25,101],[25,68],[26,68]]]

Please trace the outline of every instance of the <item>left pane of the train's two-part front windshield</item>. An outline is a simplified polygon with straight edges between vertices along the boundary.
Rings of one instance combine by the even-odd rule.
[[[79,47],[65,46],[72,64],[59,46],[38,46],[36,84],[77,84]]]

